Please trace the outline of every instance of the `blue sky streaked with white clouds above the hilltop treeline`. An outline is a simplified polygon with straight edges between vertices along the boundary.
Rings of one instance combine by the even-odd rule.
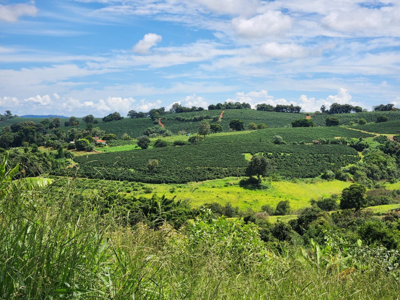
[[[400,1],[0,0],[0,110],[400,107]]]

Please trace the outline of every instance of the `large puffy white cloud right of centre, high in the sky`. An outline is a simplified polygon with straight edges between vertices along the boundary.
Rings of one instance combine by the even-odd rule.
[[[232,27],[242,37],[261,38],[290,30],[292,19],[279,10],[268,10],[250,19],[241,16],[235,18],[232,20]]]

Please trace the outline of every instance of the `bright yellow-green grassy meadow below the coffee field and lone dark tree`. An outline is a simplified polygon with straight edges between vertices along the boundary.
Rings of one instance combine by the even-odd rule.
[[[339,194],[344,188],[350,186],[348,182],[324,181],[316,183],[305,182],[272,182],[265,190],[250,190],[241,188],[236,177],[210,180],[190,184],[150,184],[153,193],[178,199],[191,199],[192,206],[204,203],[218,202],[224,205],[230,202],[241,209],[253,208],[260,210],[264,204],[276,206],[281,200],[289,200],[292,209],[298,210],[310,206],[311,198],[320,198],[330,194]],[[196,189],[196,190],[195,190]],[[152,194],[144,194],[151,197]]]

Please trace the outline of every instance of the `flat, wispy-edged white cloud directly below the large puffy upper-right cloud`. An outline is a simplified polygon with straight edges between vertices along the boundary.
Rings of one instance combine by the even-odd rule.
[[[308,56],[309,50],[293,43],[268,42],[258,48],[258,53],[274,58],[303,58]]]

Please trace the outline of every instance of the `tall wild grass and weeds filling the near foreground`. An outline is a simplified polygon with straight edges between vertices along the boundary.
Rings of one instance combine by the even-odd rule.
[[[73,181],[0,194],[0,299],[399,299],[398,271],[373,255],[336,268],[226,220],[121,226],[101,193],[75,194]]]

